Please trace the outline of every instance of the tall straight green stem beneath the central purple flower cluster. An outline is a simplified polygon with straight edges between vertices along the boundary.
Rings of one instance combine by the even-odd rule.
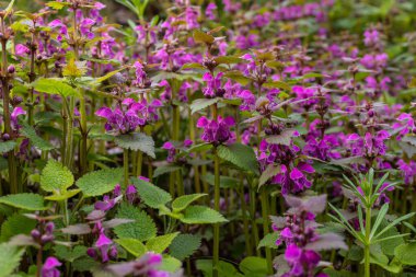
[[[213,208],[217,211],[220,211],[220,158],[218,157],[217,149],[215,151],[215,164],[213,164],[213,174],[215,174],[215,186],[213,186]],[[218,266],[219,266],[219,250],[220,250],[220,224],[213,224],[213,259],[212,259],[212,269],[213,277],[218,277]]]

